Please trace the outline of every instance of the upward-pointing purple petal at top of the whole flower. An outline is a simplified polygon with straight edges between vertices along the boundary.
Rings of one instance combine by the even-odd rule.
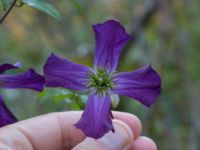
[[[115,20],[93,25],[96,48],[94,65],[114,71],[124,45],[131,39],[122,25]]]

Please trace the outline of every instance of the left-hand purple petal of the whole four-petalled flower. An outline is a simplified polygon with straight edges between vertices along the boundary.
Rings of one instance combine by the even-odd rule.
[[[51,54],[44,66],[48,87],[64,87],[73,90],[86,89],[90,68]]]

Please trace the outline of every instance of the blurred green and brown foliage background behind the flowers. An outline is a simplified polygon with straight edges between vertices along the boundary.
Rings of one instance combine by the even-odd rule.
[[[118,71],[147,64],[162,78],[162,94],[147,108],[120,97],[117,110],[136,114],[143,135],[160,150],[200,149],[200,1],[199,0],[49,0],[62,17],[28,6],[14,7],[0,24],[0,63],[23,63],[43,74],[51,52],[93,65],[91,25],[117,19],[134,40],[124,48]],[[0,11],[0,16],[3,15]],[[19,69],[18,72],[23,72]],[[0,89],[19,120],[82,108],[87,96],[66,89]],[[78,100],[77,100],[78,97]],[[77,101],[78,104],[77,104]],[[81,103],[81,104],[80,104]]]

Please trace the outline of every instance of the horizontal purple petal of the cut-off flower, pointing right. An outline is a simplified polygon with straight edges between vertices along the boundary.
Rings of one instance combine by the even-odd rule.
[[[44,77],[37,74],[33,69],[29,69],[25,73],[19,75],[0,75],[0,87],[29,88],[42,91],[44,84]]]

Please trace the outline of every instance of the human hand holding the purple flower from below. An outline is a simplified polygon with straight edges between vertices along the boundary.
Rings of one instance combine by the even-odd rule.
[[[140,136],[142,125],[131,114],[113,112],[115,133],[98,140],[86,138],[74,127],[81,111],[51,113],[0,128],[0,150],[156,150],[155,143]]]

